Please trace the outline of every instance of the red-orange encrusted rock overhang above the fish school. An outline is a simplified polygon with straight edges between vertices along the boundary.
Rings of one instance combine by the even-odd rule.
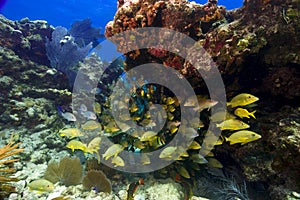
[[[105,35],[109,39],[126,30],[142,27],[162,27],[185,33],[197,41],[188,49],[189,57],[194,58],[193,55],[199,52],[197,46],[203,46],[218,64],[229,90],[277,90],[276,84],[264,80],[272,79],[279,67],[292,68],[290,71],[293,72],[300,64],[298,1],[246,1],[242,8],[232,11],[213,2],[200,5],[185,0],[119,1],[115,18],[107,24]],[[119,50],[127,52],[127,43],[117,41],[117,44]],[[150,62],[175,68],[193,79],[193,85],[204,87],[195,66],[163,48],[126,53],[125,69]],[[205,63],[208,61],[204,61],[203,66],[207,66]],[[295,85],[298,82],[298,78],[293,81]],[[282,84],[280,90],[288,88],[288,84]],[[299,95],[300,88],[295,87],[287,97]]]

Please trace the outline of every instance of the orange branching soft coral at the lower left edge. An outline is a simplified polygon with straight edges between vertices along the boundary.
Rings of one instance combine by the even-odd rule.
[[[14,162],[19,161],[19,159],[6,159],[10,156],[16,155],[23,152],[24,149],[20,149],[20,143],[14,144],[12,138],[7,145],[0,148],[0,198],[8,196],[14,191],[14,187],[10,186],[8,182],[18,181],[17,178],[10,177],[15,171],[11,165]]]

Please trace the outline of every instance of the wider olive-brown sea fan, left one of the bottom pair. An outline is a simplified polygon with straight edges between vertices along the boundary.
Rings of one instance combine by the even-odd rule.
[[[64,157],[59,163],[49,163],[44,178],[52,183],[61,182],[65,186],[78,185],[81,183],[82,173],[79,158]]]

